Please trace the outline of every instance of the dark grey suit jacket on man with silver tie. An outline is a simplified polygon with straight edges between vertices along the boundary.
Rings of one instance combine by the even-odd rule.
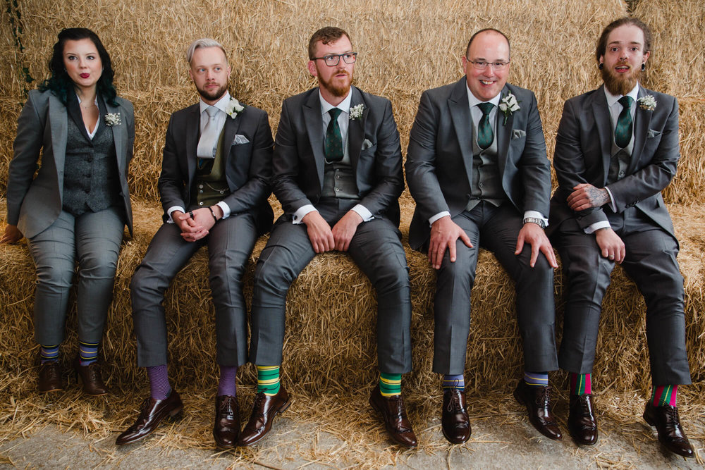
[[[164,159],[159,175],[159,195],[166,211],[173,206],[184,209],[190,203],[190,188],[196,174],[196,149],[200,128],[199,105],[176,111],[169,119],[164,145]],[[231,216],[250,212],[257,221],[261,235],[271,228],[274,214],[267,197],[271,194],[272,142],[271,128],[266,112],[247,106],[235,118],[228,116],[223,128],[223,155],[226,180],[231,194],[223,199]],[[242,135],[249,142],[235,144],[235,136]]]

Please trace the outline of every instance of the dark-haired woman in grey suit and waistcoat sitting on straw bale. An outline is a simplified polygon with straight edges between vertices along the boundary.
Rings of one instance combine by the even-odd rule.
[[[8,225],[0,243],[27,237],[37,268],[40,392],[63,388],[59,345],[78,261],[79,348],[73,366],[87,394],[104,395],[98,346],[125,223],[132,233],[127,174],[135,141],[133,106],[117,97],[110,56],[91,30],[59,32],[49,68],[51,77],[30,92],[17,121]]]

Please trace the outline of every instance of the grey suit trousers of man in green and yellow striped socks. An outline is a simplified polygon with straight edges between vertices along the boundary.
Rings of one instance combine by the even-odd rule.
[[[357,199],[323,198],[317,209],[332,227],[357,202]],[[250,361],[254,364],[281,364],[286,294],[315,254],[306,225],[293,225],[288,219],[280,218],[255,270],[250,341]],[[398,228],[383,218],[357,225],[348,254],[377,293],[379,371],[411,371],[409,268]]]

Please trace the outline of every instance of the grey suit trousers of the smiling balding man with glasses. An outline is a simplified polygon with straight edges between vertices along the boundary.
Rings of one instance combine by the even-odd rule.
[[[477,254],[482,246],[494,252],[497,260],[516,282],[517,322],[524,342],[526,371],[558,369],[553,305],[553,268],[539,254],[529,266],[531,246],[514,254],[522,228],[522,214],[511,204],[495,207],[480,202],[472,211],[453,217],[470,237],[473,248],[456,242],[455,262],[446,254],[436,278],[434,301],[434,365],[436,373],[461,374],[465,371],[467,336],[470,333],[470,291],[475,278]]]

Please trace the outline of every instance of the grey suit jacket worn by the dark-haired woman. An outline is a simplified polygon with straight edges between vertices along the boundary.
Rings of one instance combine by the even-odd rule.
[[[116,98],[118,106],[106,103],[106,111],[120,113],[121,123],[111,126],[120,176],[121,197],[126,223],[132,234],[132,206],[128,188],[128,164],[135,143],[135,116],[130,101]],[[17,137],[13,146],[7,185],[7,223],[18,225],[20,232],[32,238],[49,227],[61,214],[63,175],[68,135],[68,110],[51,92],[33,89],[17,120]],[[101,119],[104,119],[102,116]],[[42,166],[37,177],[39,152]]]

